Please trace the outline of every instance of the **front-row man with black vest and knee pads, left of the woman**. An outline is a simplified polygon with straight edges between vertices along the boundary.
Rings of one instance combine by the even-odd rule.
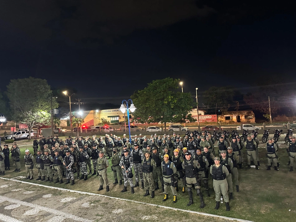
[[[193,204],[193,194],[192,194],[192,185],[196,189],[196,195],[199,196],[200,199],[200,205],[199,208],[204,208],[205,204],[203,202],[203,193],[200,190],[201,182],[198,177],[198,169],[201,168],[199,163],[194,159],[191,158],[191,153],[186,152],[185,153],[185,158],[184,162],[182,163],[182,168],[185,171],[185,176],[186,176],[186,185],[187,185],[187,190],[189,193],[189,203],[187,206],[190,206]]]

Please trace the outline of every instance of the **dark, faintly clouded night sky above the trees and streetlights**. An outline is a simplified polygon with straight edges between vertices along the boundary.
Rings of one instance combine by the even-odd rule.
[[[2,0],[0,89],[32,76],[76,89],[85,104],[119,104],[166,77],[201,97],[212,85],[287,82],[296,71],[292,2]]]

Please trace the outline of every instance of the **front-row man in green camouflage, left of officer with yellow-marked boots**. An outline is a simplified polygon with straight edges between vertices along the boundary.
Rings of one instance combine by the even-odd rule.
[[[151,191],[151,198],[154,198],[154,178],[153,178],[153,170],[156,168],[155,161],[150,157],[150,152],[147,150],[145,152],[145,158],[142,162],[142,172],[144,179],[144,186],[146,189],[146,193],[143,196],[150,195],[149,190]]]

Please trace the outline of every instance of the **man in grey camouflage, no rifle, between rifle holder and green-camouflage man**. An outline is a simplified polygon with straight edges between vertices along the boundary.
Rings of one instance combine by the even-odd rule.
[[[136,184],[134,187],[139,186],[139,177],[141,180],[141,188],[144,189],[144,180],[143,180],[143,173],[142,173],[142,161],[144,159],[143,151],[139,149],[139,144],[134,143],[134,148],[132,150],[132,156],[134,161],[134,171],[135,171],[135,178]]]

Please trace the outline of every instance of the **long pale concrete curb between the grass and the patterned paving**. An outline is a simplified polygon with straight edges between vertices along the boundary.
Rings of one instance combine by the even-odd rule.
[[[46,188],[50,188],[50,189],[56,189],[56,190],[61,190],[61,191],[70,191],[70,192],[80,193],[80,194],[102,196],[102,197],[108,197],[108,198],[116,199],[116,200],[125,200],[125,201],[130,201],[130,202],[134,202],[134,203],[138,203],[138,204],[145,204],[145,205],[150,205],[150,206],[157,206],[157,207],[162,207],[162,208],[170,209],[170,210],[179,210],[179,211],[183,211],[183,212],[187,212],[187,213],[192,213],[192,214],[203,215],[203,216],[211,216],[211,217],[216,217],[216,218],[221,218],[221,219],[227,219],[227,220],[233,220],[233,221],[240,221],[240,222],[252,222],[250,220],[242,220],[242,219],[237,219],[237,218],[232,218],[232,217],[225,217],[225,216],[219,216],[219,215],[214,215],[214,214],[207,214],[207,213],[202,213],[202,212],[193,211],[193,210],[183,210],[183,209],[174,208],[174,207],[167,207],[167,206],[163,206],[163,205],[149,204],[149,203],[144,203],[144,202],[140,202],[140,201],[128,200],[128,199],[123,199],[123,198],[119,198],[119,197],[112,197],[112,196],[107,196],[107,195],[102,195],[102,194],[95,194],[95,193],[89,193],[89,192],[84,192],[84,191],[74,191],[74,190],[69,190],[69,189],[60,188],[60,187],[47,186],[47,185],[43,185],[43,184],[30,183],[30,182],[26,182],[26,181],[18,181],[18,180],[14,180],[14,179],[10,179],[10,178],[0,177],[0,179],[9,180],[9,181],[15,181],[15,182],[20,182],[20,183],[26,183],[26,184],[35,185],[35,186],[42,186],[42,187],[46,187]]]

